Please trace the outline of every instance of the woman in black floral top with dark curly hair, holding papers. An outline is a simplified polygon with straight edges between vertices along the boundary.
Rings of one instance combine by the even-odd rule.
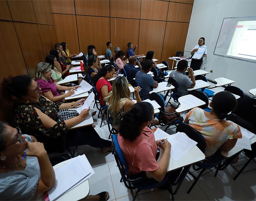
[[[112,149],[112,142],[103,140],[92,126],[68,130],[82,122],[89,114],[89,109],[84,109],[78,117],[60,121],[58,111],[69,109],[72,103],[53,103],[42,96],[39,83],[29,76],[21,75],[3,80],[3,91],[15,100],[11,114],[12,126],[19,126],[22,132],[33,135],[38,141],[45,144],[47,149],[56,149],[61,146],[64,134],[65,147],[91,145],[101,148],[102,152]],[[74,107],[84,103],[84,99],[73,103]],[[56,150],[55,150],[56,151]]]

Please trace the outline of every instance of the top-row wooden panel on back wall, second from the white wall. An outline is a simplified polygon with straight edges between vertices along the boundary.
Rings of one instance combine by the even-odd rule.
[[[168,5],[167,1],[142,0],[140,19],[166,21]]]

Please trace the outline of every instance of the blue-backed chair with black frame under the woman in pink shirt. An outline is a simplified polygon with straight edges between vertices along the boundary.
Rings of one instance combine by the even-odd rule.
[[[133,200],[136,199],[140,190],[152,189],[152,188],[162,186],[162,185],[166,185],[167,190],[172,195],[172,199],[174,200],[174,197],[173,197],[174,193],[172,191],[172,187],[170,186],[171,184],[168,182],[168,177],[165,177],[163,179],[163,181],[161,181],[161,182],[158,182],[154,179],[148,179],[147,177],[139,177],[136,179],[130,179],[129,175],[128,175],[128,173],[129,173],[128,166],[125,161],[123,152],[120,148],[120,145],[118,143],[116,135],[112,135],[112,141],[113,141],[113,145],[114,145],[114,152],[113,152],[114,157],[116,159],[117,167],[121,174],[120,182],[123,181],[125,187],[127,187],[127,189],[131,190]],[[148,181],[150,181],[150,183]],[[134,189],[138,189],[135,194],[133,193]]]

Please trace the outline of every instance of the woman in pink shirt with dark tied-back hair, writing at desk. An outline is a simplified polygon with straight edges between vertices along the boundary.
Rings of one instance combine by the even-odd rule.
[[[161,182],[165,177],[168,177],[170,182],[174,182],[181,172],[181,169],[178,169],[166,173],[171,144],[165,139],[155,141],[154,133],[147,126],[153,115],[154,108],[150,103],[136,103],[121,118],[117,136],[129,168],[128,177],[135,179],[146,175],[148,179],[142,181],[146,185]],[[163,155],[158,162],[157,147],[163,149]]]

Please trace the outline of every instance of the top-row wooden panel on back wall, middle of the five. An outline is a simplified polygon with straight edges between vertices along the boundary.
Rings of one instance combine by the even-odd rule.
[[[110,0],[110,16],[116,18],[140,18],[140,1]]]

